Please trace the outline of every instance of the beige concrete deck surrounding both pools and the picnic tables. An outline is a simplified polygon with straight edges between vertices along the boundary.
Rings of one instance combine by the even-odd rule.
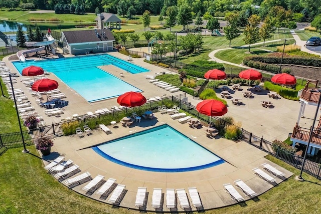
[[[121,55],[117,52],[108,53],[110,55],[117,56],[121,59],[126,59],[127,56]],[[148,99],[154,96],[162,96],[167,94],[177,95],[182,92],[170,93],[162,88],[150,84],[145,79],[146,75],[152,75],[158,72],[169,72],[166,69],[150,65],[143,62],[143,59],[133,59],[134,64],[140,65],[150,70],[141,74],[129,74],[123,72],[113,66],[102,66],[102,69],[108,70],[108,72],[120,77],[120,73],[124,74],[122,79],[127,83],[141,89],[143,95]],[[7,66],[11,69],[12,73],[19,73],[15,67],[8,62],[8,58],[4,58],[4,62],[7,62]],[[22,88],[25,90],[25,94],[29,101],[33,104],[36,111],[40,116],[44,118],[47,125],[56,122],[60,122],[62,118],[72,117],[73,114],[82,115],[88,111],[96,111],[101,108],[110,109],[111,106],[119,106],[116,102],[116,98],[99,101],[95,103],[88,103],[80,95],[78,95],[71,88],[62,83],[55,75],[48,76],[50,79],[55,79],[59,82],[59,89],[66,94],[67,98],[63,100],[69,101],[68,106],[64,107],[64,114],[60,117],[47,117],[44,114],[44,108],[40,108],[35,103],[35,98],[28,92],[26,86],[24,86],[19,79],[14,84],[15,88]],[[241,105],[233,105],[231,98],[226,99],[228,103],[228,113],[226,115],[232,116],[235,121],[242,122],[242,127],[252,132],[257,136],[263,136],[264,139],[273,141],[274,139],[284,140],[287,138],[288,133],[292,132],[295,122],[298,118],[298,112],[300,103],[296,101],[290,101],[283,98],[272,99],[267,95],[267,91],[259,93],[253,92],[252,98],[245,98],[242,92],[246,91],[247,87],[242,86],[242,91],[231,91],[232,97],[242,98]],[[221,89],[217,89],[216,92],[221,93]],[[193,105],[197,105],[201,100],[193,99],[192,96],[187,95],[188,101]],[[46,97],[44,96],[44,99]],[[270,100],[273,103],[273,108],[264,108],[261,106],[260,101]],[[304,127],[309,127],[312,123],[315,107],[307,105],[305,107],[305,118],[300,119],[300,124],[305,124]],[[58,153],[64,155],[66,159],[72,159],[74,164],[80,166],[80,169],[85,172],[88,171],[95,177],[97,174],[105,176],[107,180],[109,177],[117,179],[117,183],[126,185],[126,194],[120,202],[120,206],[128,208],[135,207],[135,196],[137,187],[147,187],[148,199],[146,210],[155,210],[151,207],[151,196],[153,188],[162,188],[163,195],[166,193],[166,188],[185,188],[188,192],[188,187],[197,187],[203,206],[205,209],[222,207],[235,203],[231,200],[230,196],[224,191],[223,184],[232,183],[236,179],[242,179],[246,182],[254,191],[261,194],[268,189],[272,188],[276,183],[282,181],[281,178],[276,178],[274,185],[264,182],[261,178],[255,176],[252,173],[252,168],[259,167],[264,162],[269,162],[264,158],[267,154],[255,147],[240,141],[229,141],[219,136],[216,139],[209,139],[204,134],[203,129],[192,129],[188,124],[180,124],[176,120],[172,120],[167,114],[156,113],[157,119],[151,121],[142,120],[141,123],[135,123],[130,128],[124,128],[119,125],[118,128],[108,126],[112,134],[105,134],[99,129],[93,130],[94,134],[79,138],[73,136],[62,136],[55,138],[55,145],[52,148],[52,154],[49,155],[49,160],[57,157]],[[186,134],[202,146],[213,151],[215,154],[223,158],[226,163],[219,166],[211,167],[208,169],[191,171],[191,172],[178,172],[178,173],[165,173],[165,172],[149,172],[137,169],[128,168],[125,166],[119,166],[113,162],[106,160],[105,158],[96,154],[92,149],[83,149],[89,146],[93,146],[98,143],[112,140],[121,136],[128,135],[137,131],[141,131],[147,128],[154,127],[156,125],[169,124],[178,131]],[[271,163],[275,166],[275,164]],[[292,175],[289,171],[276,166],[280,171],[285,172],[285,177],[288,178]],[[81,188],[85,184],[73,188],[81,194],[85,194]],[[241,193],[245,198],[246,196]],[[109,195],[110,196],[110,195]],[[98,194],[94,193],[92,198],[100,200]],[[108,200],[108,198],[107,198]],[[106,202],[107,200],[101,200]],[[175,211],[169,210],[166,207],[166,197],[163,197],[163,211]],[[191,201],[190,201],[191,202]],[[178,203],[178,211],[183,211]],[[193,208],[193,210],[196,210]]]

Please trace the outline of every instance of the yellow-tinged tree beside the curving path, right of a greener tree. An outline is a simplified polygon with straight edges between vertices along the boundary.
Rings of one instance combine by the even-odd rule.
[[[251,44],[256,43],[260,40],[259,27],[260,17],[257,15],[252,15],[248,19],[248,24],[244,29],[244,39],[245,44],[249,44],[249,52]]]

